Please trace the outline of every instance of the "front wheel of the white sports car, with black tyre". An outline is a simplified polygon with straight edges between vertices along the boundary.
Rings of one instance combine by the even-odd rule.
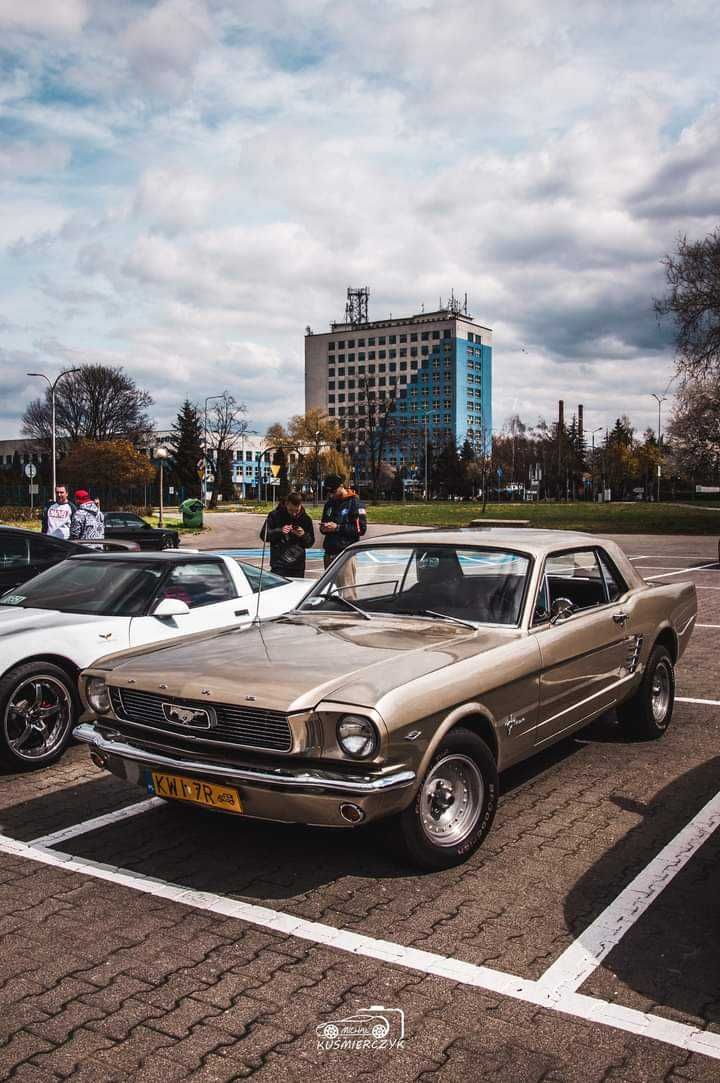
[[[0,759],[16,771],[63,755],[77,714],[71,678],[49,662],[28,662],[0,680]]]

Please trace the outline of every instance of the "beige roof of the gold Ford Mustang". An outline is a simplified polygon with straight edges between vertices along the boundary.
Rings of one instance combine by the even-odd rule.
[[[592,534],[585,534],[581,531],[532,530],[523,526],[461,526],[455,530],[429,529],[381,534],[363,539],[357,544],[357,548],[372,545],[489,546],[542,556],[555,549],[595,545],[599,542],[600,539]]]

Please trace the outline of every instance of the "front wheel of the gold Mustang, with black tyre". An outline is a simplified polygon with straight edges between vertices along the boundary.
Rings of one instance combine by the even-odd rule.
[[[413,804],[393,818],[391,837],[413,864],[451,869],[487,835],[497,799],[492,752],[476,733],[458,727],[438,745]]]

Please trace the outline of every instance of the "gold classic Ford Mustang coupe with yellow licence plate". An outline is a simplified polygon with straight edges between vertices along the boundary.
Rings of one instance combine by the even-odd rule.
[[[697,603],[587,534],[421,531],[341,553],[300,605],[96,662],[75,735],[149,793],[286,823],[387,818],[464,861],[498,771],[616,708],[660,736]]]

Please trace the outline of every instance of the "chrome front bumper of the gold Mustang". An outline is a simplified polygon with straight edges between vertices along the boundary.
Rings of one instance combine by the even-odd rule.
[[[101,728],[93,722],[76,727],[74,736],[90,745],[106,770],[146,788],[152,770],[235,786],[246,814],[261,820],[349,827],[352,824],[340,812],[344,803],[362,809],[368,822],[405,808],[415,793],[416,774],[408,769],[346,775],[302,766],[269,769],[201,762],[128,744],[112,725]]]

